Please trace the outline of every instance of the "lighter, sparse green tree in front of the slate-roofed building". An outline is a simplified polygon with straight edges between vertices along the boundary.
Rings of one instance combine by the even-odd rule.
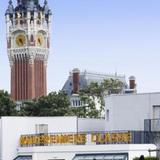
[[[117,79],[105,79],[101,84],[97,82],[90,83],[79,92],[84,105],[77,109],[74,108],[73,113],[81,117],[104,117],[104,97],[122,92],[123,87],[124,83]]]

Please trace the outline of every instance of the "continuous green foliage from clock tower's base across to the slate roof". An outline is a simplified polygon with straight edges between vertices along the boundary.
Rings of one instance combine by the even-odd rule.
[[[21,108],[22,116],[77,116],[82,118],[100,118],[104,111],[104,96],[119,93],[123,83],[118,80],[107,79],[103,83],[91,83],[80,90],[79,96],[82,107],[70,107],[70,101],[64,92],[51,92],[47,96],[25,102]],[[95,102],[96,101],[96,102]],[[99,108],[96,103],[98,102]]]

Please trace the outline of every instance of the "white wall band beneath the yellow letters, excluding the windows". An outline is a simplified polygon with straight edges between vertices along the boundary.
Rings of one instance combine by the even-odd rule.
[[[152,144],[113,144],[113,145],[60,145],[50,147],[19,148],[19,155],[33,155],[33,160],[65,159],[72,160],[76,154],[128,153],[129,160],[140,155],[149,156],[149,149],[156,149]],[[156,153],[152,152],[151,156]]]

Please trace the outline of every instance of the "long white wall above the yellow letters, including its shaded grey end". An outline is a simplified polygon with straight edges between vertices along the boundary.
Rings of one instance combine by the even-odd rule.
[[[21,135],[35,134],[37,124],[48,124],[48,133],[76,133],[104,130],[104,120],[77,117],[2,117],[0,121],[2,160],[12,160],[17,155]]]

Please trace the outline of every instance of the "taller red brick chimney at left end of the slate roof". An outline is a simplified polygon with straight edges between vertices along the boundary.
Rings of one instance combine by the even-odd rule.
[[[78,68],[73,69],[73,94],[76,94],[79,91],[79,81],[80,81],[80,70]]]

